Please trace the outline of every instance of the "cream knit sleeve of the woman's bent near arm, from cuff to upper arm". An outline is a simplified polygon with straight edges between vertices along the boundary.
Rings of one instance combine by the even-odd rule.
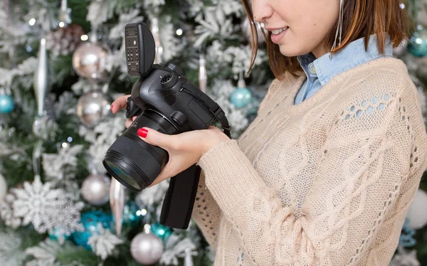
[[[392,97],[369,115],[346,119],[342,112],[318,154],[299,218],[236,140],[201,157],[206,186],[256,265],[374,265],[378,258],[370,256],[391,257],[426,168],[424,151],[413,161],[413,132],[402,104]],[[373,241],[382,249],[369,252]]]

